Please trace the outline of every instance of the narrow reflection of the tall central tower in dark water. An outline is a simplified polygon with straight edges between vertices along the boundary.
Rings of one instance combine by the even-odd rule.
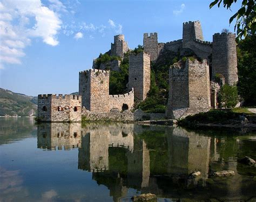
[[[150,156],[146,143],[142,141],[136,142],[132,153],[127,153],[128,184],[139,189],[149,186],[150,178]]]

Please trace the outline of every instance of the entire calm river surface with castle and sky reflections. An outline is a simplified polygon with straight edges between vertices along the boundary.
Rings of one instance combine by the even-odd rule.
[[[0,119],[0,201],[256,201],[256,134]],[[233,170],[230,178],[211,178]],[[188,179],[200,171],[197,179]]]

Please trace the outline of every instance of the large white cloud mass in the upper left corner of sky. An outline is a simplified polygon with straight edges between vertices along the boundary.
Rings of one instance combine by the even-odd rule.
[[[56,46],[62,20],[58,12],[65,6],[59,0],[49,0],[49,8],[41,0],[3,0],[0,2],[0,67],[4,64],[21,64],[23,49],[31,39],[39,37],[43,42]]]

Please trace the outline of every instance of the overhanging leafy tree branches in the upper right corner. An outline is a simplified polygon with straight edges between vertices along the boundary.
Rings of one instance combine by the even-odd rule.
[[[214,0],[210,4],[210,9],[218,4],[220,7],[223,3],[224,8],[231,9],[233,3],[237,3],[238,0]],[[256,32],[256,17],[255,17],[256,5],[254,0],[242,0],[241,8],[230,18],[230,24],[235,18],[234,31],[237,30],[237,40],[246,37],[247,33],[255,34]]]

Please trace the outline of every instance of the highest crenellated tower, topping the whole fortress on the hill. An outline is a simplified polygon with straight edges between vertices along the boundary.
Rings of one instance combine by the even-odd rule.
[[[191,48],[194,40],[204,40],[199,21],[183,23],[183,48]]]

